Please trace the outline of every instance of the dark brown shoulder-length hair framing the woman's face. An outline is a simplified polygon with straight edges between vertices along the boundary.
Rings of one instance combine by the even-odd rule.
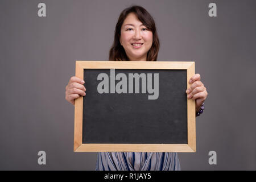
[[[153,34],[153,42],[150,50],[147,52],[147,61],[156,61],[159,51],[159,38],[156,32],[155,22],[152,16],[141,6],[131,6],[124,9],[119,15],[115,26],[114,42],[109,51],[110,61],[129,61],[125,49],[120,44],[121,27],[128,14],[134,13],[142,24]]]

